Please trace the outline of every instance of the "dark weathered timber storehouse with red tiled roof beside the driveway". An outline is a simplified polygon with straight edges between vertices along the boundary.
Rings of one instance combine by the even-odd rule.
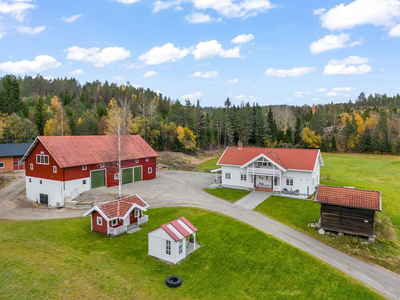
[[[375,211],[382,210],[381,192],[320,185],[314,202],[321,203],[320,228],[374,237]]]

